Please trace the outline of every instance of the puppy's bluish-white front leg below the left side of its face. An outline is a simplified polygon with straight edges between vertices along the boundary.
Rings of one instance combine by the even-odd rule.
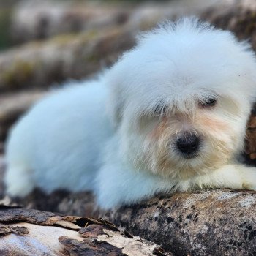
[[[113,208],[136,203],[157,192],[170,191],[173,187],[171,181],[160,176],[130,169],[121,162],[113,162],[99,170],[94,192],[101,208]]]

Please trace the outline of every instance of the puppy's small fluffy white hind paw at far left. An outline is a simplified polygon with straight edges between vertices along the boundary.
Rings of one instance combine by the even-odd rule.
[[[31,171],[22,165],[8,167],[4,181],[7,186],[7,194],[11,196],[23,197],[34,189]]]

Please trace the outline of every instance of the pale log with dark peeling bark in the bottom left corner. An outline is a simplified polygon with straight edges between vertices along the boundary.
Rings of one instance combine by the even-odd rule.
[[[104,219],[0,206],[0,255],[172,254]]]

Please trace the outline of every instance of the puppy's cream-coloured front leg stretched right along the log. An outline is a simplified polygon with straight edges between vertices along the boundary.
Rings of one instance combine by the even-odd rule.
[[[256,168],[245,165],[224,165],[211,173],[178,184],[178,190],[181,191],[198,187],[256,190]]]

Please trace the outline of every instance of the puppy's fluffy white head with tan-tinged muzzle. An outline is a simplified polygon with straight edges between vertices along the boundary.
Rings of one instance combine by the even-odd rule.
[[[227,164],[244,146],[255,74],[249,45],[196,18],[142,34],[107,78],[122,157],[172,178]]]

